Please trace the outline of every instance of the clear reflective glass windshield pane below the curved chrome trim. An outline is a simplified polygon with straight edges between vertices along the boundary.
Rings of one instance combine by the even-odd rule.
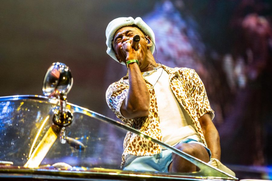
[[[1,99],[0,97],[0,161],[2,164],[13,162],[12,166],[15,167],[29,167],[29,160],[37,154],[37,159],[40,159],[40,164],[37,166],[42,168],[58,167],[52,165],[65,163],[77,170],[120,170],[123,141],[128,131],[163,145],[164,148],[169,149],[170,154],[173,151],[183,156],[173,147],[149,138],[131,127],[73,104],[67,105],[73,113],[72,123],[56,132],[56,126],[52,121],[55,106],[57,106],[56,100],[44,97],[16,99]],[[198,163],[197,160],[192,159],[192,161],[200,164],[199,167],[209,167]],[[62,169],[67,170],[64,167]],[[157,173],[156,171],[153,174]],[[220,176],[214,169],[205,173]],[[160,174],[171,175],[170,173]],[[175,174],[199,176],[202,173]]]

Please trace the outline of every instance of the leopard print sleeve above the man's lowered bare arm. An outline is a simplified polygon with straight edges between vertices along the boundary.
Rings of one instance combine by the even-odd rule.
[[[197,117],[200,118],[206,113],[210,113],[211,118],[214,118],[214,111],[212,110],[203,82],[195,70],[192,70],[192,78],[190,82],[190,92],[193,106],[195,107]]]

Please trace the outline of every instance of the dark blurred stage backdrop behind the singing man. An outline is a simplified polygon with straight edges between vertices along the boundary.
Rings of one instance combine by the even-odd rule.
[[[161,63],[193,68],[202,78],[222,162],[237,172],[271,170],[269,0],[1,1],[0,96],[42,95],[47,68],[63,62],[74,78],[68,101],[117,120],[105,91],[126,67],[106,54],[105,29],[129,16],[154,30]],[[121,148],[122,139],[112,132],[112,144]]]

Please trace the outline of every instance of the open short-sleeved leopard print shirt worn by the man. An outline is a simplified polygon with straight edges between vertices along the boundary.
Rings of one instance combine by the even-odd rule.
[[[207,147],[200,123],[199,117],[205,113],[210,113],[212,119],[214,112],[210,107],[207,98],[205,87],[200,80],[195,70],[190,68],[169,68],[163,65],[163,68],[169,74],[169,82],[171,90],[173,91],[178,102],[183,106],[191,117],[196,131],[199,133],[203,143]],[[153,86],[145,79],[147,88],[150,94],[150,111],[146,117],[136,119],[126,119],[121,115],[120,107],[128,94],[128,76],[121,78],[121,80],[111,84],[106,91],[106,101],[110,109],[115,115],[126,125],[131,126],[152,138],[162,141],[162,134],[160,130],[160,119],[158,117],[158,107]],[[161,152],[162,147],[145,138],[127,132],[124,139],[124,152],[122,155],[122,164],[125,162],[127,154],[146,156],[154,155]]]

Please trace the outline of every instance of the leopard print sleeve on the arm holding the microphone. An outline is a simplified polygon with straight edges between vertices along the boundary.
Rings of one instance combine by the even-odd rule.
[[[120,81],[111,84],[106,91],[107,104],[121,121],[126,120],[126,118],[121,115],[120,108],[127,95],[128,85],[122,84]]]

